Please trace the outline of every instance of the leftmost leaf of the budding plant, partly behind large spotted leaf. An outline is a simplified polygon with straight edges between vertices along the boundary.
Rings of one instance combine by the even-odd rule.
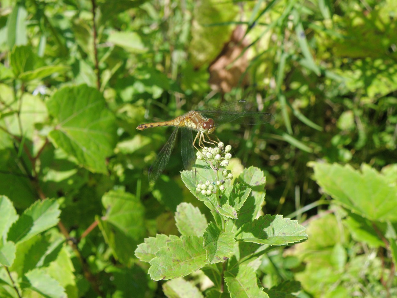
[[[175,235],[163,235],[157,234],[156,237],[145,238],[145,242],[138,245],[135,250],[135,256],[143,262],[149,262],[151,259],[156,257],[155,253],[162,248],[167,246],[168,242],[179,239]]]

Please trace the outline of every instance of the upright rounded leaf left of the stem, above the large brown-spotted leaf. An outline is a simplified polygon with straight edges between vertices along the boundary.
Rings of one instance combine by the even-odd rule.
[[[207,219],[200,209],[191,203],[181,203],[175,213],[176,226],[179,233],[185,236],[202,236],[207,227]]]

